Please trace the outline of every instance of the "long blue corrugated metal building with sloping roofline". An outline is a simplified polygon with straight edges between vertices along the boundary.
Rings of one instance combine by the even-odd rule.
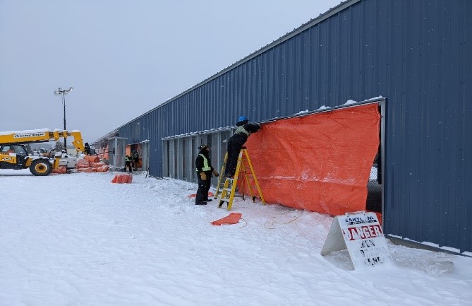
[[[345,1],[97,145],[116,149],[116,165],[123,146],[140,146],[150,175],[195,182],[198,144],[219,167],[239,115],[382,97],[384,232],[472,252],[470,16],[470,0]]]

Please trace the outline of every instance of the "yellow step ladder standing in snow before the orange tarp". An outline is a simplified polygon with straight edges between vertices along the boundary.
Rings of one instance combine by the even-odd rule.
[[[228,152],[224,155],[224,161],[222,166],[221,174],[224,173],[226,167],[226,160],[228,160]],[[258,197],[255,194],[255,189],[257,189],[262,205],[265,205],[264,196],[262,195],[262,190],[260,189],[258,178],[255,177],[255,172],[253,164],[250,162],[248,150],[243,146],[238,156],[238,163],[236,165],[236,172],[234,172],[234,178],[219,176],[217,191],[214,194],[214,199],[219,199],[218,208],[222,208],[223,204],[228,205],[227,210],[231,211],[231,206],[233,206],[234,194],[236,193],[236,187],[238,185],[238,179],[241,177],[243,184],[241,184],[241,190],[239,192],[242,194],[244,199],[245,194],[245,184],[248,186],[248,193],[255,203],[255,198]],[[223,181],[224,180],[224,181]]]

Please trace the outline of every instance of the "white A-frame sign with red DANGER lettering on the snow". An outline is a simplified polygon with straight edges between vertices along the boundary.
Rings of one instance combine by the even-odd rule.
[[[346,213],[334,218],[321,254],[342,249],[348,250],[354,268],[392,262],[375,213]]]

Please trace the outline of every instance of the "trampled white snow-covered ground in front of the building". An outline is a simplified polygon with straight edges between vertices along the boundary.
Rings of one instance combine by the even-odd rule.
[[[322,257],[333,218],[116,172],[0,170],[0,305],[472,305],[472,259],[388,242],[395,264]]]

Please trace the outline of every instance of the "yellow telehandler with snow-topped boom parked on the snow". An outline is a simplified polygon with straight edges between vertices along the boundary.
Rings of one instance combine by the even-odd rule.
[[[65,156],[56,154],[54,159],[50,160],[44,156],[30,156],[25,149],[27,143],[58,141],[68,137],[73,137],[72,143],[78,153],[84,151],[82,134],[77,130],[69,132],[59,129],[35,129],[0,132],[0,169],[30,168],[33,175],[44,176],[61,165],[68,167],[67,159],[63,159]]]

